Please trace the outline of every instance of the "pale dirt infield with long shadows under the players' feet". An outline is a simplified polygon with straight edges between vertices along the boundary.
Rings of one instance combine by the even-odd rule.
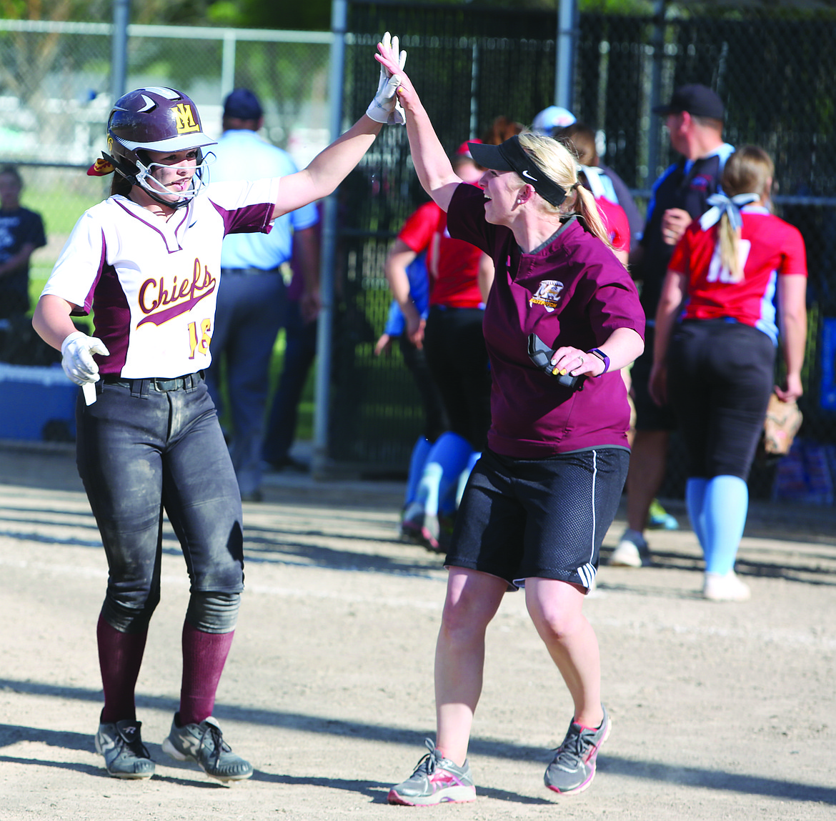
[[[400,494],[394,483],[278,476],[266,502],[245,506],[247,590],[215,715],[256,773],[232,788],[161,752],[188,596],[166,530],[163,598],[137,688],[156,775],[124,782],[107,776],[93,747],[106,569],[73,458],[0,447],[0,595],[10,616],[0,818],[836,817],[836,539],[826,528],[788,535],[767,518],[742,545],[745,604],[701,599],[687,528],[652,534],[652,568],[601,569],[586,613],[613,732],[589,791],[561,799],[543,787],[571,703],[523,596],[508,594],[488,633],[471,745],[477,801],[387,805],[432,732],[446,578],[438,557],[395,537]],[[608,552],[623,526],[614,524]]]

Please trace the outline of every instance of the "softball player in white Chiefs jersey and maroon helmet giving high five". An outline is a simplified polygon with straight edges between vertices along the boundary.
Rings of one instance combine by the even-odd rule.
[[[405,54],[399,57],[402,63]],[[137,89],[110,113],[108,153],[94,173],[116,171],[111,196],[76,223],[33,325],[84,386],[77,462],[110,573],[97,627],[104,708],[95,746],[116,778],[150,778],[155,769],[134,691],[160,599],[164,509],[186,559],[191,598],[180,710],[162,747],[222,781],[252,775],[212,717],[243,588],[241,496],[203,380],[221,241],[232,232],[267,232],[276,217],[327,196],[382,122],[402,122],[395,102],[381,69],[367,115],[306,169],[206,186],[203,150],[213,141],[186,94]],[[91,309],[94,337],[71,319]]]

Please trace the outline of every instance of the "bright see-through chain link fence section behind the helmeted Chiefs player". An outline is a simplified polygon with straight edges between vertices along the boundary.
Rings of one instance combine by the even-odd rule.
[[[323,32],[130,26],[127,89],[171,85],[189,94],[206,133],[221,133],[222,100],[237,86],[263,100],[263,134],[298,165],[329,142],[329,44]],[[48,246],[33,255],[37,295],[75,221],[107,196],[86,176],[105,147],[111,27],[0,20],[0,164],[23,176]],[[211,167],[210,167],[211,175]]]

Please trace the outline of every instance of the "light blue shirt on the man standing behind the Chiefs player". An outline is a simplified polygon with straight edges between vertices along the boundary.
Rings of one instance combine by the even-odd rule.
[[[209,166],[209,181],[260,180],[288,176],[298,171],[287,151],[263,140],[248,129],[224,131],[212,153],[217,160]],[[269,271],[288,262],[293,252],[293,232],[319,222],[313,202],[273,222],[268,234],[229,234],[221,248],[222,268],[263,268]]]

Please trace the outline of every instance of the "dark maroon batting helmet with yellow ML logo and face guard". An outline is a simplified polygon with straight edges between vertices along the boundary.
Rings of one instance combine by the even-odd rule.
[[[140,186],[162,205],[180,208],[188,205],[202,184],[201,148],[215,140],[202,130],[196,105],[186,94],[164,86],[151,86],[124,94],[116,100],[107,126],[108,151],[104,159],[131,185]],[[155,167],[146,151],[185,151],[197,149],[197,170],[179,200],[153,176]],[[167,166],[166,166],[167,167]]]

